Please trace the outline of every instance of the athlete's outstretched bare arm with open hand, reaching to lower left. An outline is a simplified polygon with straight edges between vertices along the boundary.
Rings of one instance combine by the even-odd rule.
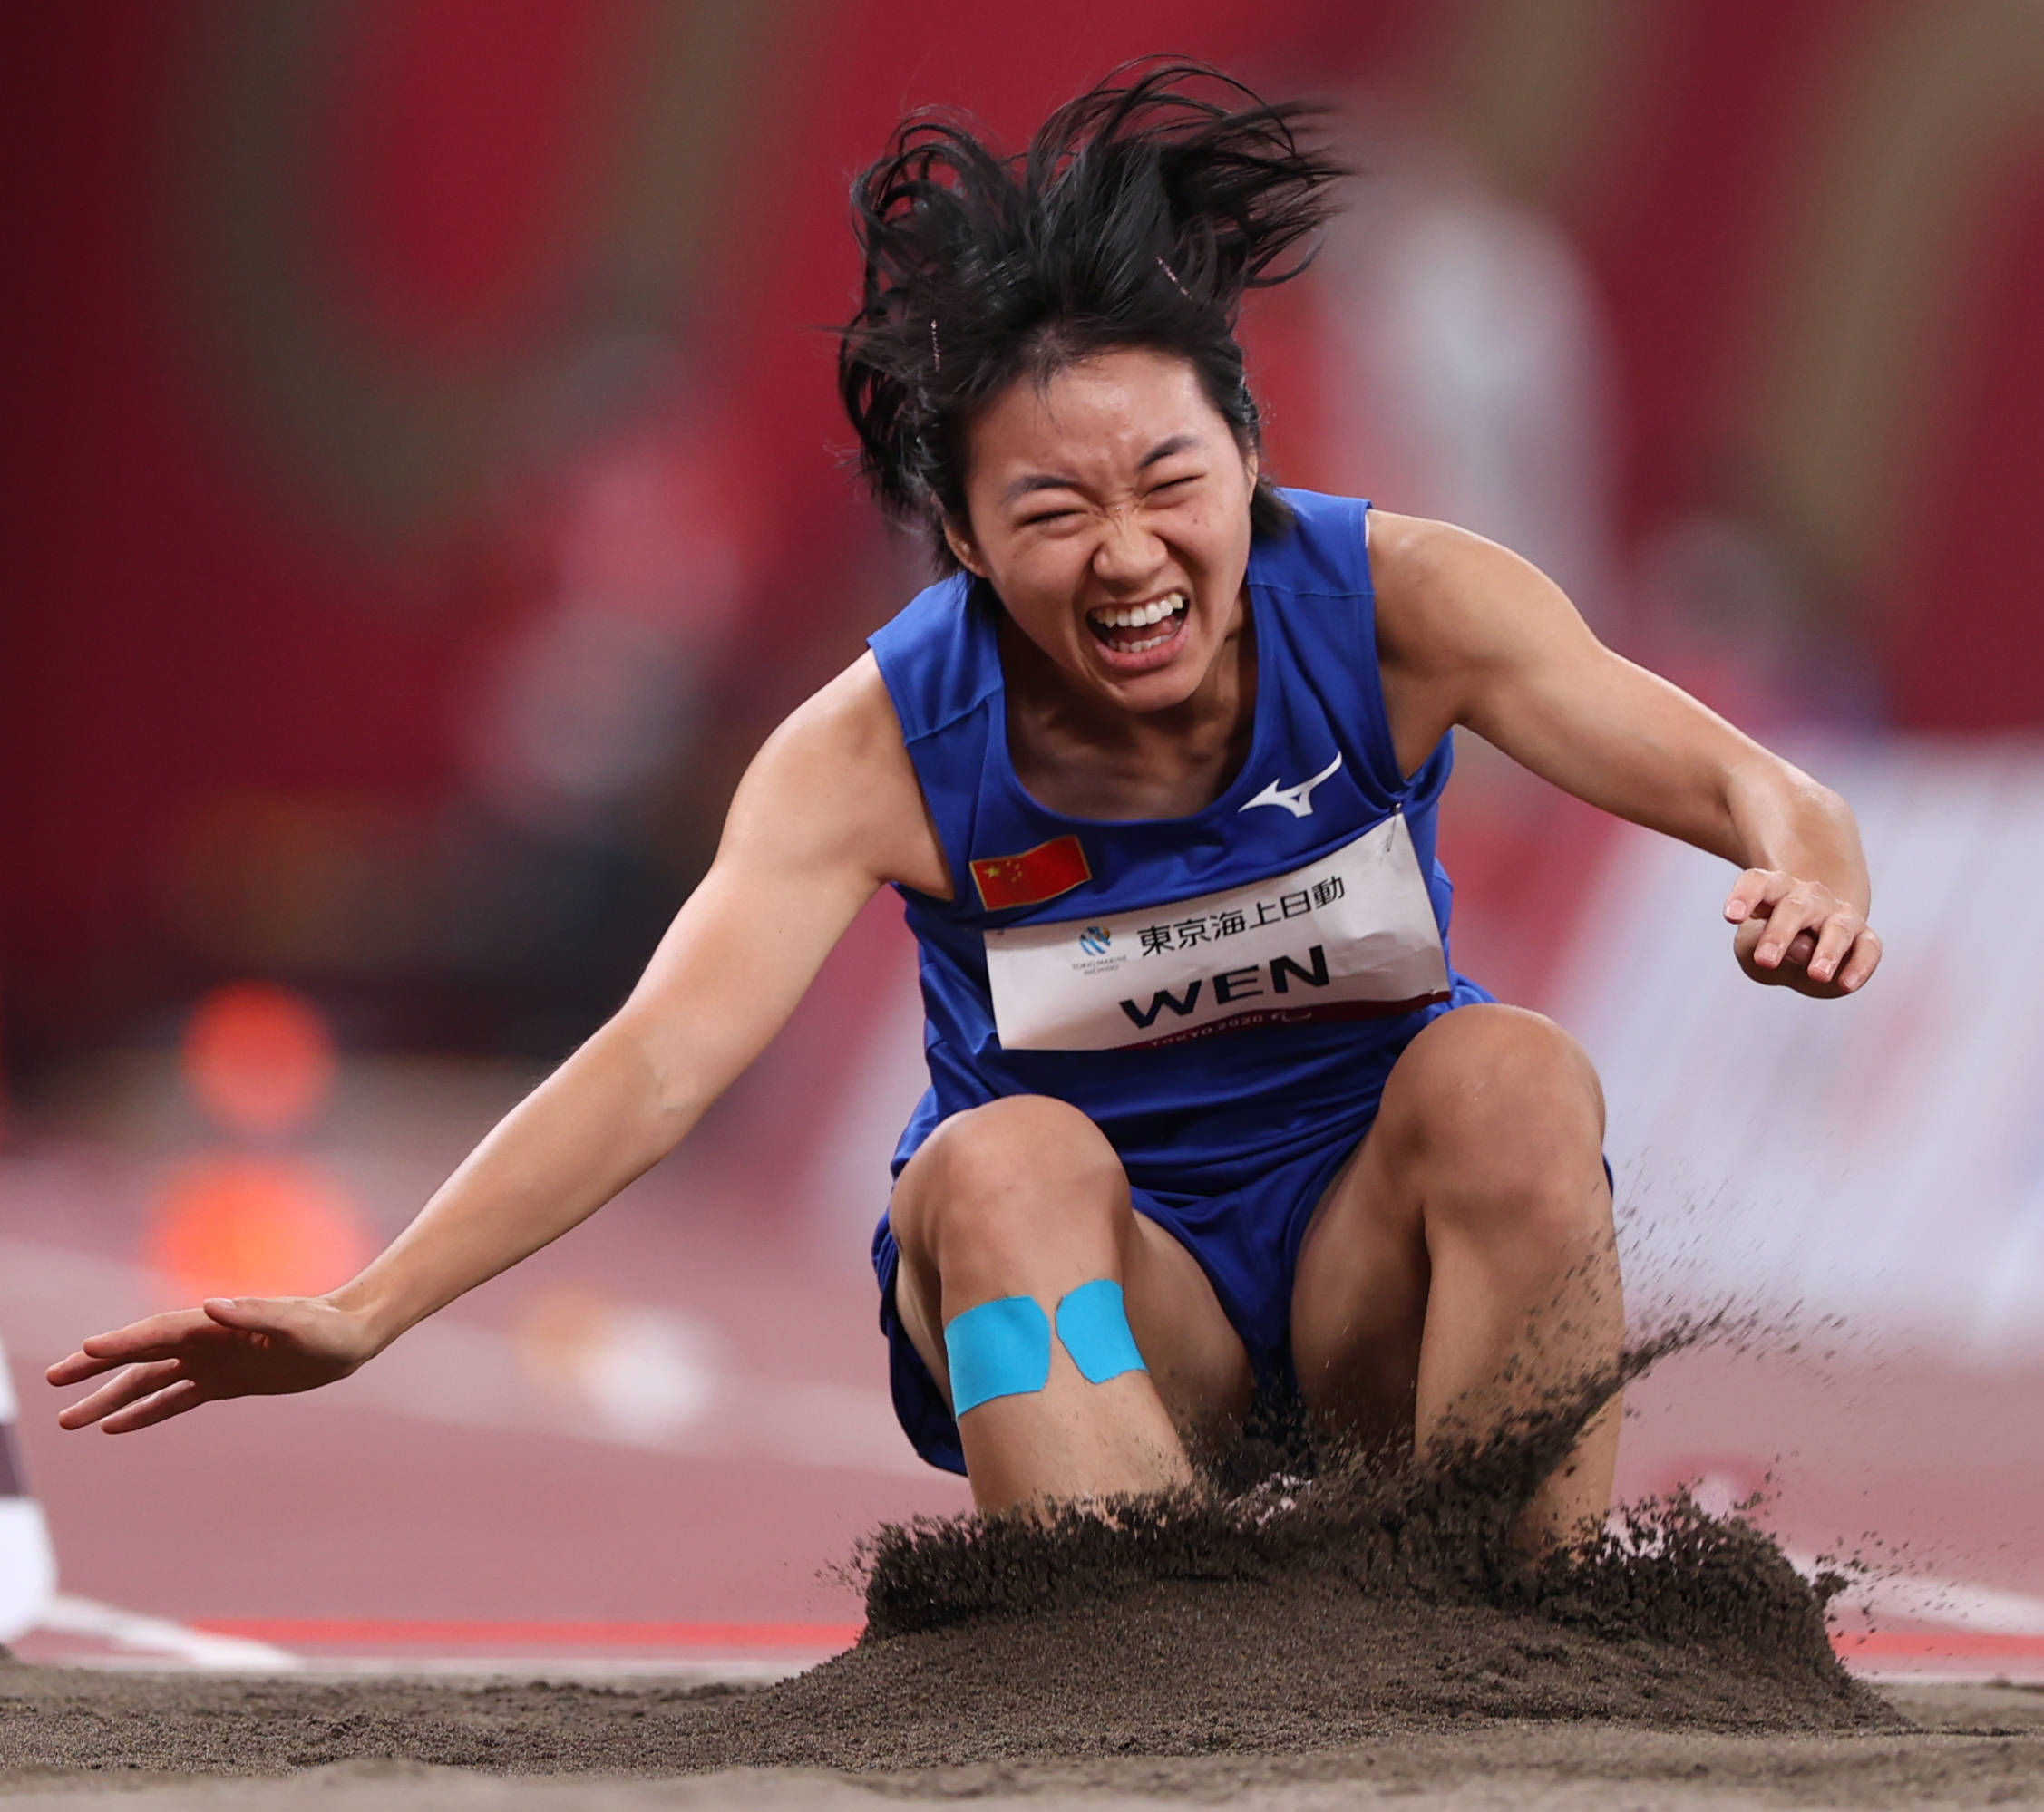
[[[948,893],[867,656],[769,737],[709,874],[625,1005],[499,1122],[360,1277],[323,1297],[221,1299],[98,1334],[49,1381],[119,1375],[57,1420],[125,1434],[215,1397],[345,1377],[672,1150],[787,1021],[858,907],[895,878]]]

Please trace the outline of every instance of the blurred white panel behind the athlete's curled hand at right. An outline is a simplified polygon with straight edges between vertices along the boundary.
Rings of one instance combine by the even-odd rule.
[[[1558,1017],[1611,1107],[1627,1293],[1970,1365],[2044,1354],[2044,748],[1793,750],[1852,803],[1880,972],[1746,981],[1725,862],[1647,831],[1578,917]]]

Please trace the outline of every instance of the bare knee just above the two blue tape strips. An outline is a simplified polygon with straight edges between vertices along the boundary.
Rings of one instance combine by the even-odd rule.
[[[1128,1183],[1106,1134],[1049,1095],[953,1113],[901,1173],[889,1222],[912,1262],[955,1271],[1100,1238]]]

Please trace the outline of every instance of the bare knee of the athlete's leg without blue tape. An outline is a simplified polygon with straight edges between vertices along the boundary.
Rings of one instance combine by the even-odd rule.
[[[1582,1046],[1521,1007],[1443,1013],[1392,1070],[1380,1130],[1429,1226],[1547,1244],[1609,1230],[1605,1095]]]

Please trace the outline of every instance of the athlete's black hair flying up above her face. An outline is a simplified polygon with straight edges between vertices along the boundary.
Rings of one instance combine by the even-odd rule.
[[[1247,290],[1312,261],[1335,212],[1347,170],[1294,131],[1318,110],[1206,63],[1143,59],[1057,108],[1016,157],[928,110],[901,121],[852,184],[865,282],[838,390],[861,472],[930,531],[938,570],[957,568],[944,517],[965,521],[965,429],[1024,374],[1173,353],[1237,443],[1259,447],[1235,323]],[[1249,513],[1255,533],[1292,521],[1261,478]]]

